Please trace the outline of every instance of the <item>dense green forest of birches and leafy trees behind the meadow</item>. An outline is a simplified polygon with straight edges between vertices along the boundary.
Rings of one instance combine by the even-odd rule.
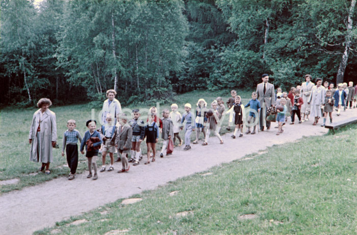
[[[356,0],[1,1],[1,105],[357,83]]]

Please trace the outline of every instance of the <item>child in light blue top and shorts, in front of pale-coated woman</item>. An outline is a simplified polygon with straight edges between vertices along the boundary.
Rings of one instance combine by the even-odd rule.
[[[103,150],[101,153],[101,169],[100,172],[106,171],[106,157],[109,152],[110,156],[110,166],[108,171],[114,170],[114,152],[115,152],[115,137],[116,137],[116,126],[113,122],[113,117],[111,113],[107,114],[106,124],[101,126],[99,129],[99,134],[101,139],[103,139]]]

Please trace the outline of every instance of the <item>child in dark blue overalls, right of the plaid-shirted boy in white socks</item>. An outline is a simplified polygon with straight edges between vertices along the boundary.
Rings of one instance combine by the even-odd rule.
[[[145,127],[145,134],[144,138],[146,137],[146,146],[147,146],[147,161],[145,165],[150,163],[150,152],[152,150],[152,162],[155,161],[155,154],[156,154],[156,143],[158,143],[159,139],[159,127],[156,124],[155,114],[151,113],[148,116],[148,124]]]

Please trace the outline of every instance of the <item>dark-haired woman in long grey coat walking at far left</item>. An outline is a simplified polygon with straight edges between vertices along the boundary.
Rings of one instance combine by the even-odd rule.
[[[30,160],[42,162],[40,171],[46,167],[47,175],[50,173],[49,163],[53,161],[52,148],[57,141],[56,114],[48,109],[50,105],[52,102],[47,98],[38,101],[40,109],[34,113],[29,134]]]

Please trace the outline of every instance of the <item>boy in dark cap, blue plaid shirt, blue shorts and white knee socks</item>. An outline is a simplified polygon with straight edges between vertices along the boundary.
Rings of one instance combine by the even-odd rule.
[[[144,139],[145,134],[145,124],[142,120],[139,120],[140,112],[139,109],[133,110],[134,119],[130,120],[129,125],[133,128],[133,137],[132,137],[132,149],[131,156],[129,162],[133,162],[133,166],[139,165],[139,161],[141,160],[141,150],[140,144]]]

